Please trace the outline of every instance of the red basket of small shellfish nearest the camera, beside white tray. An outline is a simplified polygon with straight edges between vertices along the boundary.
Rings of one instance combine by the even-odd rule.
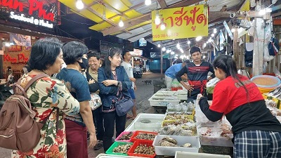
[[[152,145],[152,141],[137,140],[133,143],[133,146],[128,151],[129,156],[136,157],[155,157],[155,148]]]

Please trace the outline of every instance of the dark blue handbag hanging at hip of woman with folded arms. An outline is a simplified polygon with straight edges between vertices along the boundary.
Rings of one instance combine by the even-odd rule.
[[[115,103],[117,115],[119,117],[124,116],[133,108],[133,100],[129,97],[124,98]]]

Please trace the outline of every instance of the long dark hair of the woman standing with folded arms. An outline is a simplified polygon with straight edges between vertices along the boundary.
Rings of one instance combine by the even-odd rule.
[[[113,58],[114,55],[122,55],[122,50],[120,48],[113,47],[108,51],[108,55],[105,57],[105,62],[103,64],[103,67],[105,67],[105,76],[107,77],[107,79],[110,79],[111,77],[111,62],[108,57]]]

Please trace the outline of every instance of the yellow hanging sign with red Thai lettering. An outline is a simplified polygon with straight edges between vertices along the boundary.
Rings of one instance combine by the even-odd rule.
[[[159,25],[155,24],[156,11],[152,11],[152,40],[183,39],[208,36],[208,18],[204,5],[159,10]],[[161,29],[161,25],[165,29]]]

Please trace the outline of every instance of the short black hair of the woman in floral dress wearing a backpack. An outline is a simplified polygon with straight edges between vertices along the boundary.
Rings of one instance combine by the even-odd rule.
[[[28,66],[30,70],[46,70],[60,54],[62,44],[53,39],[39,39],[31,48]]]

